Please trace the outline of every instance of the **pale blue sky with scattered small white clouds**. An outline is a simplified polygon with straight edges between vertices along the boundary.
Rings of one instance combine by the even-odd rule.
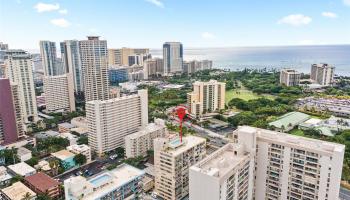
[[[350,44],[350,0],[0,0],[10,48],[88,35],[108,48]]]

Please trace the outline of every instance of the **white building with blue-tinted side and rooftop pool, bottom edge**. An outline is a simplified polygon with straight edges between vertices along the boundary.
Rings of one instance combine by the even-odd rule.
[[[66,200],[138,199],[142,170],[127,164],[92,178],[76,176],[64,181]]]

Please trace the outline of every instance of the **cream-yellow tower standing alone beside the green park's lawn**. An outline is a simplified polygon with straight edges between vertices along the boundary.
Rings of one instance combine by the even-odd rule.
[[[225,83],[216,80],[193,83],[193,92],[187,94],[189,112],[200,117],[207,112],[225,109]]]

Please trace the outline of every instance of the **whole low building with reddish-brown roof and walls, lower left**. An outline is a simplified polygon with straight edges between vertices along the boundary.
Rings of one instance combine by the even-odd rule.
[[[61,195],[60,183],[42,172],[24,178],[24,183],[37,194],[46,194],[51,198]]]

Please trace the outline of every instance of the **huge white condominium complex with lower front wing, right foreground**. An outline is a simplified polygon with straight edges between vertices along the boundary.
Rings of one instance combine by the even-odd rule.
[[[220,198],[218,188],[224,192],[221,195],[231,197],[231,193],[225,192],[233,183],[233,194],[239,195],[237,191],[243,185],[248,186],[248,200],[338,199],[344,145],[248,126],[239,127],[233,138],[235,144],[230,144],[233,148],[224,146],[214,153],[216,156],[190,169],[190,199],[228,199]],[[230,175],[246,166],[248,158],[255,163],[251,160],[248,171],[238,171],[238,181],[242,173],[249,176],[249,182],[241,185],[237,176]],[[253,176],[251,169],[254,169]],[[196,188],[198,184],[201,190]],[[208,187],[213,189],[206,190]],[[233,197],[231,199],[241,199],[237,195]]]

